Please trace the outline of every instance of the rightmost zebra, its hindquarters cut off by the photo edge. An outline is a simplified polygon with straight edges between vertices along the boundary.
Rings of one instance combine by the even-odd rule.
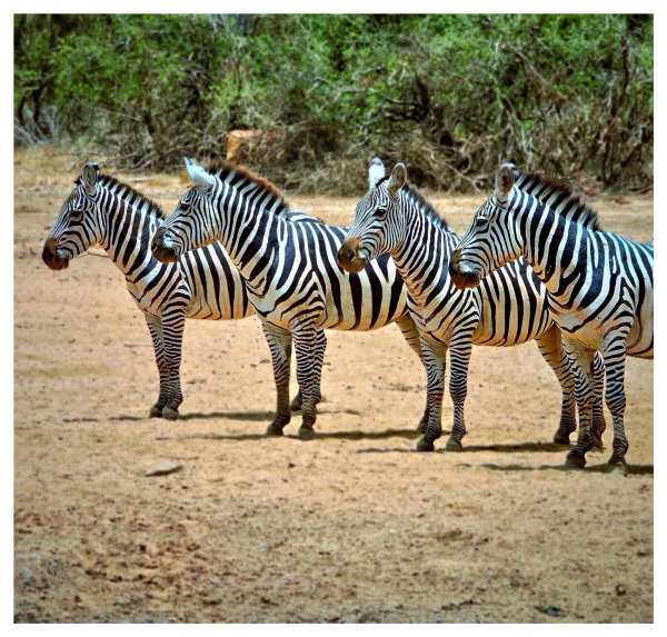
[[[594,444],[596,352],[605,361],[606,400],[614,420],[609,464],[625,464],[625,359],[654,356],[653,241],[639,243],[604,232],[596,212],[569,185],[535,173],[522,176],[506,163],[449,270],[458,287],[469,288],[518,257],[530,263],[548,290],[549,310],[579,380],[579,437],[566,465],[586,466],[586,452]]]

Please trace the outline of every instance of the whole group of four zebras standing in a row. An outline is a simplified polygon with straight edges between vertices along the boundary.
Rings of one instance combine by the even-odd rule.
[[[273,365],[281,436],[302,410],[299,437],[315,438],[325,329],[396,322],[427,374],[419,451],[441,435],[446,354],[454,402],[446,449],[462,449],[472,345],[536,340],[563,389],[554,441],[576,446],[584,467],[603,448],[603,392],[614,420],[610,464],[624,464],[625,356],[653,358],[653,242],[603,232],[570,187],[504,165],[496,190],[462,238],[416,188],[404,165],[386,177],[374,159],[351,228],[289,209],[269,181],[230,163],[186,160],[192,186],[169,217],[131,187],[88,165],[61,207],[42,258],[54,270],[99,243],[143,311],[160,376],[151,417],[173,419],[182,401],[186,318],[257,315]],[[292,342],[299,394],[289,402]]]

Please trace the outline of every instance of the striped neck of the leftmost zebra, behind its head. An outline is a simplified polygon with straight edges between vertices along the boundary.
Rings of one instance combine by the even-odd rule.
[[[159,266],[152,256],[150,241],[162,220],[149,211],[148,203],[129,205],[113,193],[101,202],[100,216],[106,220],[102,248],[128,281],[147,266]]]

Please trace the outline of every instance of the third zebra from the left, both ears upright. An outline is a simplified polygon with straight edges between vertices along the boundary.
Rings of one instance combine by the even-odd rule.
[[[422,195],[407,182],[407,169],[396,165],[391,176],[376,158],[369,167],[370,189],[357,203],[356,217],[338,252],[338,262],[355,272],[390,253],[409,290],[408,307],[419,330],[428,376],[430,415],[418,451],[432,451],[441,436],[446,354],[450,352],[449,392],[454,402],[451,435],[445,447],[462,450],[466,435],[464,402],[472,345],[508,347],[535,339],[563,388],[560,424],[554,436],[569,444],[576,429],[574,376],[549,317],[545,288],[524,260],[498,270],[476,290],[457,290],[448,262],[459,237]],[[598,382],[604,371],[596,361]],[[601,389],[599,391],[601,394]],[[601,400],[596,405],[596,435],[605,429]]]

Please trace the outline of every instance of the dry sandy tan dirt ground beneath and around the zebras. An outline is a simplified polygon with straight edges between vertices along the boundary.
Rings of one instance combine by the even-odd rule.
[[[465,451],[414,452],[425,377],[395,327],[328,332],[302,442],[298,415],[262,438],[259,321],[188,321],[182,419],[150,420],[158,375],[120,272],[41,261],[77,176],[54,151],[14,156],[16,621],[653,621],[653,361],[627,366],[626,475],[605,465],[608,412],[607,451],[563,470],[559,387],[534,344],[476,348]],[[131,183],[168,212],[187,186]],[[457,231],[481,202],[428,197]],[[336,223],[356,203],[290,199]],[[653,196],[625,199],[590,203],[651,239]],[[182,470],[145,477],[171,460]]]

